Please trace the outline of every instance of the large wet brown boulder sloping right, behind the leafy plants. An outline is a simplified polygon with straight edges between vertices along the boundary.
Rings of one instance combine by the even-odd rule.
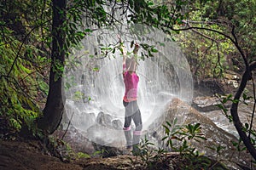
[[[216,156],[216,150],[212,150],[213,146],[218,146],[220,144],[224,147],[221,150],[220,159],[237,161],[237,157],[242,157],[243,159],[240,163],[249,162],[250,157],[246,152],[238,152],[233,146],[232,142],[237,142],[236,136],[234,134],[224,131],[222,128],[218,127],[214,122],[211,121],[207,116],[203,116],[199,111],[196,111],[193,107],[186,104],[180,99],[172,99],[169,105],[166,106],[166,111],[164,114],[155,119],[148,128],[148,136],[157,144],[163,146],[163,137],[165,136],[165,129],[162,126],[166,125],[167,122],[172,122],[177,118],[177,124],[187,125],[187,124],[201,124],[201,131],[205,134],[207,140],[202,140],[201,142],[193,142],[192,144],[196,149],[205,153],[207,156]],[[230,163],[230,162],[229,162]],[[236,165],[232,165],[236,167]]]

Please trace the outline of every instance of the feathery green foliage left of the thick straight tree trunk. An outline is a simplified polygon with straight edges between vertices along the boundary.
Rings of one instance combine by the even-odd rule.
[[[44,106],[48,92],[46,44],[43,33],[46,29],[41,10],[47,7],[42,2],[29,1],[1,3],[0,55],[1,55],[1,111],[0,116],[9,120],[12,127],[20,129],[22,122],[28,126]],[[39,8],[35,8],[38,5]],[[32,7],[32,8],[29,8]],[[45,26],[47,28],[47,26]],[[40,36],[41,35],[41,36]]]

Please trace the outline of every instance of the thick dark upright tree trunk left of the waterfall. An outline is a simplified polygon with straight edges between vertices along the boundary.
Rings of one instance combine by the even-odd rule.
[[[66,39],[63,30],[66,20],[66,3],[67,0],[52,0],[53,21],[49,94],[43,111],[44,115],[38,120],[38,127],[47,134],[54,133],[59,126],[64,110],[61,87],[66,52],[64,48]]]

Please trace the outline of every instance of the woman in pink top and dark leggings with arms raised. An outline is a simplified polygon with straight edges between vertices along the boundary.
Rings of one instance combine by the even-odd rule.
[[[133,155],[138,155],[139,149],[137,145],[141,137],[143,123],[142,116],[137,105],[137,84],[139,77],[137,76],[137,61],[135,56],[139,49],[138,43],[135,44],[131,59],[127,58],[127,52],[124,46],[121,48],[123,54],[123,78],[125,83],[125,96],[123,98],[123,104],[125,106],[125,125],[123,127],[125,132],[125,139],[127,149],[131,149]],[[135,131],[133,131],[133,138],[131,137],[131,120],[135,123]]]

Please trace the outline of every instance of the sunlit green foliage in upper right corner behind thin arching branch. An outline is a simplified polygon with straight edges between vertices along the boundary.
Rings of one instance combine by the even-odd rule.
[[[181,32],[177,41],[198,81],[221,77],[226,69],[243,71],[241,53],[249,62],[255,60],[255,8],[253,1],[236,0],[200,1],[188,6],[188,18],[176,29],[191,29]]]

